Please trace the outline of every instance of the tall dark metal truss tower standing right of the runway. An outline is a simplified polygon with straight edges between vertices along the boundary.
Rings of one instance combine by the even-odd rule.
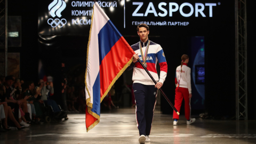
[[[236,25],[236,120],[247,121],[246,0],[235,0]]]

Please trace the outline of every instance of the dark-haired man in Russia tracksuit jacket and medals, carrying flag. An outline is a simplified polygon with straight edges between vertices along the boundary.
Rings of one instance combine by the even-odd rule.
[[[140,42],[132,45],[133,62],[128,70],[133,68],[133,91],[136,103],[136,120],[139,129],[139,142],[150,141],[149,134],[153,122],[154,109],[156,105],[156,92],[163,86],[167,75],[167,63],[162,47],[148,39],[149,27],[142,23],[137,27]],[[138,62],[142,61],[149,73],[158,83],[155,83],[148,76],[146,71]],[[160,77],[157,75],[156,64],[159,62]]]

